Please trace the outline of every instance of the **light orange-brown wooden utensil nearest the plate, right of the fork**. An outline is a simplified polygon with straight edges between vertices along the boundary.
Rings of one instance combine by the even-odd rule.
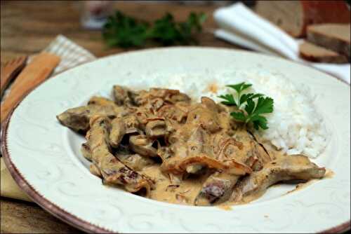
[[[1,124],[7,118],[11,109],[18,104],[29,91],[45,81],[59,62],[60,57],[49,53],[41,53],[34,57],[32,62],[18,75],[8,97],[6,97],[3,104],[1,104]]]

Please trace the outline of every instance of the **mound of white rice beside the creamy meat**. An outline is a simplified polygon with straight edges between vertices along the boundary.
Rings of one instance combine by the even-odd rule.
[[[201,96],[219,102],[218,95],[232,92],[225,85],[246,81],[252,84],[248,92],[259,92],[274,99],[274,111],[267,114],[268,129],[258,130],[258,134],[287,154],[303,153],[317,158],[326,148],[328,132],[322,116],[314,106],[314,96],[306,85],[291,83],[284,74],[267,71],[222,71],[216,74],[153,74],[135,81],[143,88],[173,88],[185,92],[194,99]],[[130,83],[130,81],[129,81]],[[218,92],[208,90],[216,84]]]

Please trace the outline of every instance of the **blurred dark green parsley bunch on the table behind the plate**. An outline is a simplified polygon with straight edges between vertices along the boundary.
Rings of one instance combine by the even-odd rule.
[[[108,46],[123,48],[142,47],[151,41],[162,46],[190,45],[197,43],[194,32],[201,32],[205,20],[204,13],[190,13],[185,22],[175,22],[167,13],[150,25],[117,11],[105,23],[102,37]]]

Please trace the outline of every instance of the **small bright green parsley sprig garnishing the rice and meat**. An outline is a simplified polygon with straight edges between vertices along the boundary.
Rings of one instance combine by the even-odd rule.
[[[272,113],[274,101],[270,97],[264,97],[260,93],[246,93],[242,94],[244,90],[251,87],[249,83],[238,83],[236,85],[227,85],[237,92],[235,98],[232,94],[220,95],[219,97],[225,99],[222,103],[228,106],[237,106],[239,111],[232,112],[230,115],[237,121],[244,123],[253,123],[253,127],[258,130],[268,129],[267,118],[263,113]],[[256,101],[255,101],[256,99]]]

